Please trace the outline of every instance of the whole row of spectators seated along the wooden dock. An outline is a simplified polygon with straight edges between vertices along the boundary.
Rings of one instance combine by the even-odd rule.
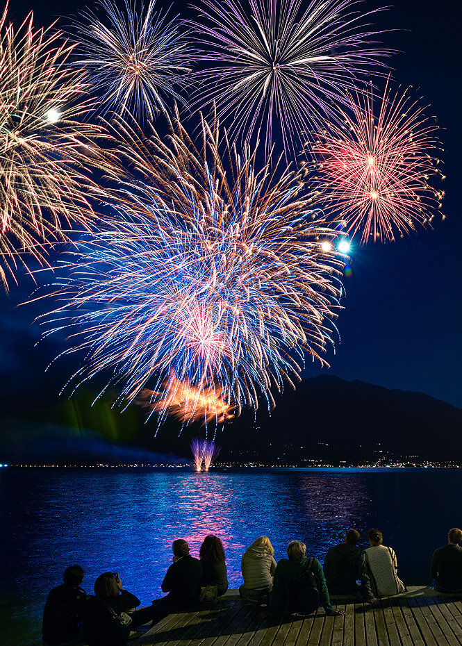
[[[328,615],[341,615],[329,595],[361,598],[379,604],[380,597],[406,590],[397,574],[397,558],[391,547],[383,545],[379,529],[368,533],[370,547],[358,546],[360,534],[347,531],[340,545],[331,547],[322,566],[306,556],[306,545],[292,540],[288,558],[276,563],[274,549],[267,536],[260,536],[242,556],[244,583],[239,588],[242,599],[263,606],[271,615],[308,614],[320,605]],[[434,552],[431,578],[436,590],[462,594],[462,531],[449,530],[447,545]],[[222,542],[217,536],[204,539],[199,559],[190,555],[185,540],[172,545],[173,563],[162,582],[161,599],[140,608],[140,599],[122,586],[117,572],[104,572],[94,583],[94,595],[81,588],[84,572],[72,565],[64,573],[64,583],[53,588],[43,614],[43,641],[47,646],[124,646],[131,630],[151,622],[156,624],[170,613],[188,611],[201,601],[215,601],[226,593],[228,579]]]

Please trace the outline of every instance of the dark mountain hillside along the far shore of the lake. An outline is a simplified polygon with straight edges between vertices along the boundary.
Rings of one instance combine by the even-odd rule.
[[[82,449],[88,442],[86,431],[92,433],[92,438],[95,434],[104,438],[106,446],[112,443],[126,447],[127,456],[133,456],[131,449],[135,447],[189,456],[190,439],[205,433],[199,424],[181,430],[175,420],[167,420],[158,430],[154,419],[145,424],[146,411],[142,408],[131,406],[125,413],[119,413],[110,407],[110,401],[101,401],[92,407],[91,401],[91,393],[78,390],[72,401],[36,407],[3,420],[0,449],[3,446],[3,453],[8,449],[12,459],[15,445],[20,446],[24,457],[28,443],[31,452],[35,452],[40,437],[48,435],[43,431],[44,425],[53,425],[52,446],[56,459],[60,454],[59,428],[63,428],[63,452],[65,449],[67,459],[69,432],[64,429],[75,431],[71,450],[76,452],[76,459],[80,454],[79,441]],[[254,420],[254,413],[244,411],[222,433],[217,433],[217,442],[222,447],[220,457],[232,461],[274,463],[279,458],[288,463],[310,459],[356,463],[377,461],[386,455],[462,461],[461,431],[461,409],[434,397],[323,375],[302,380],[295,391],[288,388],[277,397],[277,406],[271,415],[267,410],[260,410]],[[47,449],[40,449],[40,457],[51,446],[50,438],[47,439]],[[86,453],[86,449],[81,452]],[[117,449],[118,460],[122,460],[122,454]]]

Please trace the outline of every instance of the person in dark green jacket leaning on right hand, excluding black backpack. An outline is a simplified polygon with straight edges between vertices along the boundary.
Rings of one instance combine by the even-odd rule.
[[[278,561],[276,571],[274,572],[273,590],[270,600],[270,613],[279,614],[283,611],[289,613],[298,612],[301,614],[311,613],[317,610],[319,603],[322,605],[327,615],[344,615],[343,611],[336,611],[331,606],[329,600],[329,592],[327,591],[326,581],[322,573],[321,563],[317,558],[306,558],[306,545],[299,540],[292,540],[287,546],[287,558],[281,558]],[[293,581],[299,579],[303,572],[310,568],[315,577],[315,585],[317,587],[316,604],[315,607],[306,608],[292,607],[292,597],[294,596]],[[308,586],[313,588],[313,584],[308,581]],[[304,590],[300,588],[297,590],[297,598],[304,597]],[[297,604],[303,606],[302,604]]]

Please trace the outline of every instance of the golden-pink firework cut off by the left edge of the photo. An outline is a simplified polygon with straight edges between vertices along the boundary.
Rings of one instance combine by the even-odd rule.
[[[46,242],[66,239],[71,222],[87,226],[92,183],[83,167],[97,165],[99,128],[79,122],[88,104],[81,70],[69,70],[72,47],[59,31],[33,27],[28,15],[17,32],[0,22],[0,276],[6,287],[26,251],[45,263]]]

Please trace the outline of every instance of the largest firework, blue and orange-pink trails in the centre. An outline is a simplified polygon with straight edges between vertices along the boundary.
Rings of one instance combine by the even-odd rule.
[[[256,151],[220,148],[216,123],[202,122],[200,151],[179,119],[171,128],[146,141],[117,126],[135,175],[106,199],[123,219],[81,245],[49,333],[71,327],[69,352],[86,352],[77,385],[106,372],[129,403],[149,381],[160,421],[183,388],[231,413],[274,404],[270,388],[293,385],[306,354],[326,363],[344,256],[322,240],[338,233],[302,171],[257,172]]]

